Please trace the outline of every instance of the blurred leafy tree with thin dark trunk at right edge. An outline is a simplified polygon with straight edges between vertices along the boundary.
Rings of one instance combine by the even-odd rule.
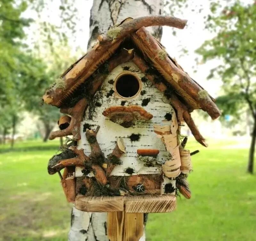
[[[256,141],[256,2],[232,1],[228,6],[221,1],[211,4],[206,28],[216,33],[197,50],[204,61],[214,58],[222,62],[211,70],[209,78],[222,79],[222,95],[217,99],[223,116],[230,114],[241,120],[249,110],[253,120],[248,172],[253,172]],[[243,120],[242,120],[243,121]]]

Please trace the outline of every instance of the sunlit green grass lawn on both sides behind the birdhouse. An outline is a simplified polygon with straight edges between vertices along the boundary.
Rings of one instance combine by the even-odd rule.
[[[192,139],[192,138],[190,138]],[[58,141],[0,146],[0,240],[67,240],[72,205],[60,178],[48,175]],[[248,150],[235,141],[192,141],[192,198],[172,213],[150,214],[147,240],[256,240],[256,176],[245,172]],[[2,239],[1,239],[2,238]]]

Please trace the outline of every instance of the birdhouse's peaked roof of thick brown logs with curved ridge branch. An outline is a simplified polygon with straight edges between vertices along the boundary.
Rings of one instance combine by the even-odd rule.
[[[133,61],[146,77],[168,97],[174,95],[180,108],[188,112],[203,109],[212,119],[220,116],[214,99],[180,67],[165,51],[165,48],[145,29],[147,26],[173,26],[184,28],[186,20],[179,18],[151,16],[137,19],[127,18],[120,25],[98,36],[97,43],[84,56],[72,64],[45,93],[47,104],[67,106],[77,91],[85,84],[93,83],[85,91],[93,95],[102,84],[109,70],[119,62]],[[124,41],[131,40],[133,48],[126,49]],[[106,67],[107,72],[104,72]],[[100,71],[101,70],[101,71]],[[151,71],[150,71],[151,70]],[[156,78],[158,77],[158,81]],[[159,79],[161,79],[159,81]],[[175,106],[174,106],[175,107]],[[176,108],[177,109],[177,108]]]

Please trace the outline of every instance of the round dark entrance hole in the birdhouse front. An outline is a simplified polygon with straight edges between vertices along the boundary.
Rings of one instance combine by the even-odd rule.
[[[135,96],[139,89],[140,83],[133,75],[125,74],[116,80],[116,92],[124,98]]]

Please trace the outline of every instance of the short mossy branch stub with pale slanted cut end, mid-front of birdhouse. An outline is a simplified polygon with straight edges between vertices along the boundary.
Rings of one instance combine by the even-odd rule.
[[[121,137],[117,137],[116,146],[115,146],[114,150],[112,151],[112,153],[110,155],[108,155],[108,166],[107,166],[107,171],[106,171],[107,177],[109,177],[109,175],[113,171],[116,164],[118,164],[118,163],[114,163],[113,160],[116,160],[116,162],[118,162],[118,160],[120,160],[120,157],[124,153],[125,153],[124,140]]]

